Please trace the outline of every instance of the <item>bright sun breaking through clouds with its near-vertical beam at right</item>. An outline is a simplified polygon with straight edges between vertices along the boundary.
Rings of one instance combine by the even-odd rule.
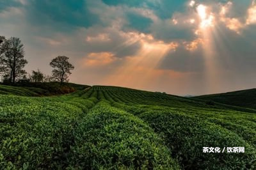
[[[223,9],[222,13],[225,13]],[[199,18],[198,28],[195,30],[195,35],[198,36],[196,40],[185,43],[186,50],[190,52],[196,51],[199,47],[202,48],[204,56],[204,79],[207,89],[218,89],[216,82],[220,82],[219,60],[216,58],[216,35],[215,15],[211,12],[211,6],[205,6],[204,4],[198,4],[196,6],[196,13]]]

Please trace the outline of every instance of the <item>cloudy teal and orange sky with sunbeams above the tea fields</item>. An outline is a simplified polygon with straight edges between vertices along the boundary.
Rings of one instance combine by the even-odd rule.
[[[19,37],[26,71],[51,74],[67,56],[70,82],[173,95],[256,88],[252,0],[0,0],[0,35]]]

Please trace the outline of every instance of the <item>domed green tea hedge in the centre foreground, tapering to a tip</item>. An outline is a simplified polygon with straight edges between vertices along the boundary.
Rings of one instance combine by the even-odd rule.
[[[79,123],[72,161],[78,169],[178,169],[143,121],[102,100]]]

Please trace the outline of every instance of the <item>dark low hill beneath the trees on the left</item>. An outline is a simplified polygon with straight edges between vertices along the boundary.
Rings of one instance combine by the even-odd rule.
[[[17,84],[0,84],[0,95],[19,95],[27,97],[63,95],[76,90],[88,88],[87,85],[59,82],[22,82]]]

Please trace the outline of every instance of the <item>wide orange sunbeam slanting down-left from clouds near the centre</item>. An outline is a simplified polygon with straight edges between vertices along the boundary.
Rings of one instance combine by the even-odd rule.
[[[151,35],[148,35],[151,36]],[[132,86],[140,88],[150,84],[155,79],[157,66],[167,52],[175,51],[177,42],[165,43],[163,41],[148,40],[141,37],[141,49],[134,55],[122,59],[124,65],[117,68],[104,82],[118,86]],[[115,75],[115,76],[113,76]]]

